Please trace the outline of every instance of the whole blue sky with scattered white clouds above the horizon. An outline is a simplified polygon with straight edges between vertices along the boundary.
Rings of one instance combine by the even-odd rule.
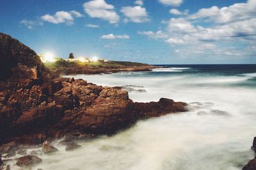
[[[148,64],[256,64],[256,0],[1,0],[36,53]]]

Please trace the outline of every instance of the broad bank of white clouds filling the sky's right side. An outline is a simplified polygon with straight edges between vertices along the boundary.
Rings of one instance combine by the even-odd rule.
[[[156,36],[157,32],[152,31],[138,32],[138,34],[163,39],[175,48],[179,47],[173,51],[180,56],[191,53],[195,56],[253,56],[255,48],[250,46],[255,46],[256,41],[255,11],[256,0],[223,8],[217,6],[202,8],[191,15],[188,15],[188,11],[172,9],[170,13],[182,16],[162,22],[166,25],[166,29],[157,32],[161,32],[163,36]]]

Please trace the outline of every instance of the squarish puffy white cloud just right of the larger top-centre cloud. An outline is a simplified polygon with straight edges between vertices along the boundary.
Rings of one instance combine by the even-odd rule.
[[[127,17],[127,21],[141,23],[149,21],[147,10],[141,6],[122,7],[122,13]]]

